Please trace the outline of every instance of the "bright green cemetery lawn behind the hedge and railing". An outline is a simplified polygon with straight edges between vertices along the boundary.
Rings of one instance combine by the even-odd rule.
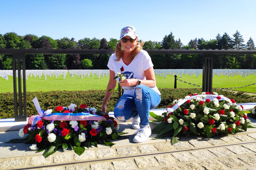
[[[178,76],[178,79],[186,82],[190,82],[192,84],[197,84],[202,86],[202,74],[196,78],[195,75],[182,75],[182,78]],[[74,75],[72,78],[69,73],[66,76],[66,79],[61,77],[47,77],[45,80],[42,76],[41,79],[28,77],[27,82],[27,91],[74,91],[74,90],[105,90],[107,87],[109,77],[100,77],[100,79],[94,75],[90,75],[90,77],[78,77]],[[160,77],[156,75],[157,87],[158,88],[174,88],[174,76],[166,75],[166,78]],[[213,88],[232,88],[232,87],[241,87],[246,86],[252,83],[256,83],[256,75],[249,75],[243,78],[241,75],[234,75],[234,77],[230,76],[229,78],[227,75],[214,75],[213,77]],[[188,83],[184,83],[181,81],[177,81],[177,88],[200,88],[197,86],[190,85]],[[238,91],[245,91],[251,92],[256,94],[256,84],[248,87],[234,89]],[[0,93],[5,92],[13,92],[13,81],[12,77],[9,76],[9,80],[5,80],[0,77]]]

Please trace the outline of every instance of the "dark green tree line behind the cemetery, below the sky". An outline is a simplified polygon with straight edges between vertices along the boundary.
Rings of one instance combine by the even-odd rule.
[[[139,40],[142,42],[142,40]],[[48,36],[37,37],[35,35],[18,36],[9,32],[0,34],[0,48],[71,48],[71,49],[115,49],[119,40],[110,38],[84,38],[75,41],[74,38],[63,37],[52,39]],[[183,45],[180,39],[175,39],[173,33],[166,35],[161,42],[146,41],[143,49],[255,49],[254,41],[250,38],[246,44],[243,36],[236,31],[232,37],[226,32],[215,39],[203,38],[191,39],[188,45]],[[60,70],[60,69],[108,69],[108,54],[29,54],[26,55],[27,70]],[[167,54],[151,55],[155,69],[202,69],[201,54]],[[256,67],[256,55],[233,54],[214,56],[214,69],[250,69]],[[0,55],[0,70],[11,70],[11,55]]]

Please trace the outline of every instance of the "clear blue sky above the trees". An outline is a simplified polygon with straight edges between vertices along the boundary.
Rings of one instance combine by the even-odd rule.
[[[215,39],[238,30],[245,43],[256,44],[255,0],[78,1],[0,0],[0,34],[15,32],[53,39],[119,39],[133,25],[143,41],[162,41],[173,33],[187,45],[190,39]]]

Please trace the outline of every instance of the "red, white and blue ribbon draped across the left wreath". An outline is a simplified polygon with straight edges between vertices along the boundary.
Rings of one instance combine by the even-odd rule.
[[[31,116],[28,119],[28,124],[35,125],[40,120],[54,120],[54,121],[103,121],[105,117],[100,115],[93,115],[90,113],[51,113],[47,114],[41,109],[37,98],[33,99],[38,115]]]

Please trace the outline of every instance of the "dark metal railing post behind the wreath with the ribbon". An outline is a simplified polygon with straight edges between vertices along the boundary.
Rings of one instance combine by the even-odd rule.
[[[25,54],[12,55],[15,122],[27,121],[26,66],[25,65],[26,65]],[[23,82],[21,79],[21,70],[22,70]],[[17,71],[18,71],[18,95],[17,95],[17,76],[16,76]],[[23,97],[22,97],[22,84],[23,84]],[[18,112],[18,99],[19,99],[19,112]],[[22,114],[22,103],[23,103],[23,111],[24,111],[23,114]]]

